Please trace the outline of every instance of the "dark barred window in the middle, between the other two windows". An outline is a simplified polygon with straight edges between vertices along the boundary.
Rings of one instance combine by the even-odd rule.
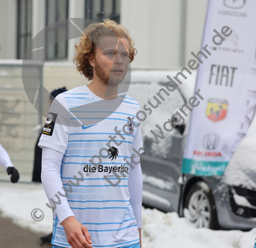
[[[57,42],[57,38],[66,36],[67,39],[67,23],[64,21],[69,16],[69,1],[68,0],[47,0],[46,1],[46,26],[51,25],[63,19],[63,22],[51,25],[51,28],[46,32],[46,43],[50,40],[55,41],[48,46],[46,60],[66,60],[68,41]],[[64,33],[63,33],[64,32]],[[52,43],[52,42],[51,42]]]

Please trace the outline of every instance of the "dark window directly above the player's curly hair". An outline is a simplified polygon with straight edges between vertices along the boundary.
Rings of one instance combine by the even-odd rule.
[[[85,18],[96,22],[109,18],[120,23],[120,0],[85,0]]]

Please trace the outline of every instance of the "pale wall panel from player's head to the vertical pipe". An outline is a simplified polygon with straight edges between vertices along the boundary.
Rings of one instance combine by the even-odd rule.
[[[135,40],[133,66],[179,66],[181,1],[122,1],[121,24]]]

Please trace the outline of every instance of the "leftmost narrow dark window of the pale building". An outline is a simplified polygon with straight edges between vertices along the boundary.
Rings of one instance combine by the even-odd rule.
[[[31,42],[32,0],[18,0],[17,59],[22,60]],[[26,59],[31,59],[28,53]]]

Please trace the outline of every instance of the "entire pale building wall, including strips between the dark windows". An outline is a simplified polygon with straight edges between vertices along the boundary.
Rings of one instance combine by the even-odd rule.
[[[16,0],[0,0],[0,59],[16,59],[16,4]],[[84,18],[84,4],[69,0],[69,18]],[[131,31],[138,50],[132,66],[184,66],[190,52],[200,49],[206,6],[206,0],[121,0],[121,24]],[[46,1],[33,0],[32,8],[34,37],[45,28]],[[57,63],[72,63],[77,41],[69,40],[68,59]]]

